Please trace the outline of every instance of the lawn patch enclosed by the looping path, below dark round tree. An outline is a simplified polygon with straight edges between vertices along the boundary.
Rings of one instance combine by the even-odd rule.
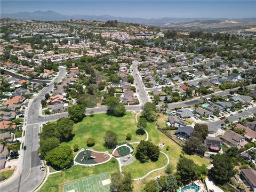
[[[137,146],[134,146],[135,156]],[[147,174],[149,171],[163,167],[167,163],[167,158],[164,154],[160,153],[159,158],[156,162],[151,162],[150,160],[147,163],[140,163],[135,157],[134,161],[129,165],[122,166],[122,171],[130,171],[132,177],[140,178],[143,175]]]

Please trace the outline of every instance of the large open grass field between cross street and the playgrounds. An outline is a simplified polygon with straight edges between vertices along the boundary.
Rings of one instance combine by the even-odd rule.
[[[123,117],[114,117],[107,114],[95,114],[93,117],[85,117],[82,122],[77,123],[73,127],[75,137],[73,140],[67,142],[68,145],[73,146],[75,143],[79,149],[93,149],[97,151],[106,151],[104,145],[104,136],[106,131],[113,131],[117,134],[117,142],[126,141],[126,134],[132,134],[132,140],[129,142],[140,141],[146,139],[146,135],[137,135],[137,125],[135,121],[135,113],[126,112]],[[87,147],[87,138],[95,139],[93,147]],[[62,143],[61,145],[65,145]],[[109,152],[111,152],[109,150]]]

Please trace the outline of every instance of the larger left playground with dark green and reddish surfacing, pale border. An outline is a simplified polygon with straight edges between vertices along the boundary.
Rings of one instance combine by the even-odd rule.
[[[104,152],[97,152],[93,150],[84,150],[82,149],[75,156],[75,164],[80,165],[95,165],[106,163],[110,160],[111,156]]]

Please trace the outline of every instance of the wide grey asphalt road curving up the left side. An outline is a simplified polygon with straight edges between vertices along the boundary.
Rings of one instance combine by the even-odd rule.
[[[66,74],[65,68],[60,68],[59,76],[50,83],[49,87],[40,92],[33,102],[28,106],[27,111],[27,126],[25,145],[27,150],[24,151],[23,165],[21,173],[17,174],[10,182],[1,185],[3,192],[28,192],[33,191],[43,180],[45,172],[41,171],[39,167],[43,164],[38,157],[39,147],[39,110],[41,100],[44,98],[45,93],[49,93],[53,87],[54,82],[59,82]]]

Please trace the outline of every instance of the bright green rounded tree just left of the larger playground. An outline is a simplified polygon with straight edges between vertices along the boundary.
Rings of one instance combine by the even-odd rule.
[[[63,169],[73,161],[73,150],[69,145],[56,147],[49,151],[45,160],[57,169]]]

